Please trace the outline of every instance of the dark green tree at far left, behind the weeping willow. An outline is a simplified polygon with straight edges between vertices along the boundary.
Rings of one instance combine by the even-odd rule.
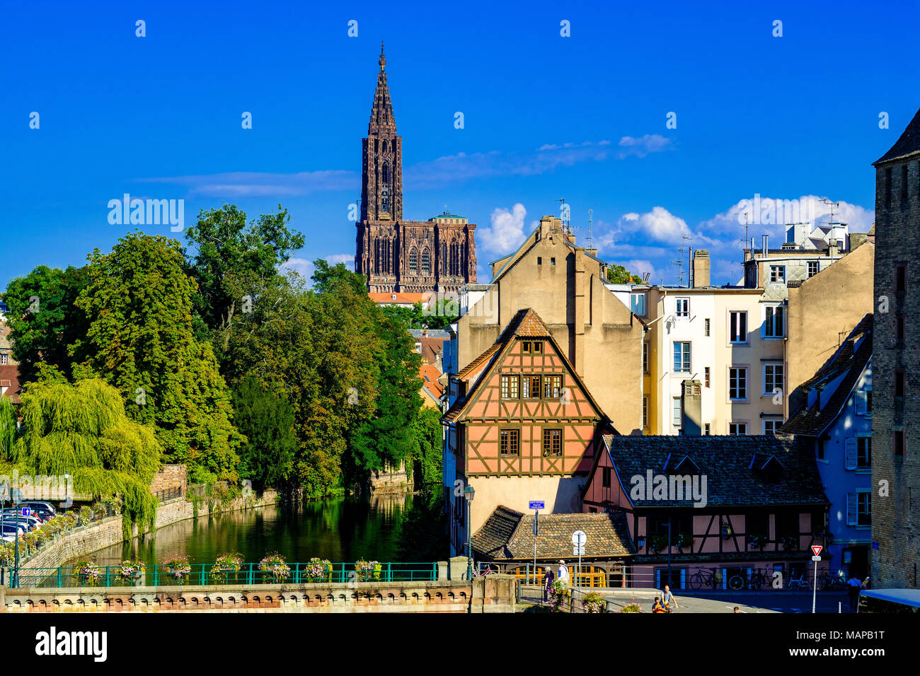
[[[85,267],[44,265],[7,284],[4,299],[20,383],[36,380],[41,362],[71,376],[67,347],[86,333],[86,317],[74,305],[85,285]]]

